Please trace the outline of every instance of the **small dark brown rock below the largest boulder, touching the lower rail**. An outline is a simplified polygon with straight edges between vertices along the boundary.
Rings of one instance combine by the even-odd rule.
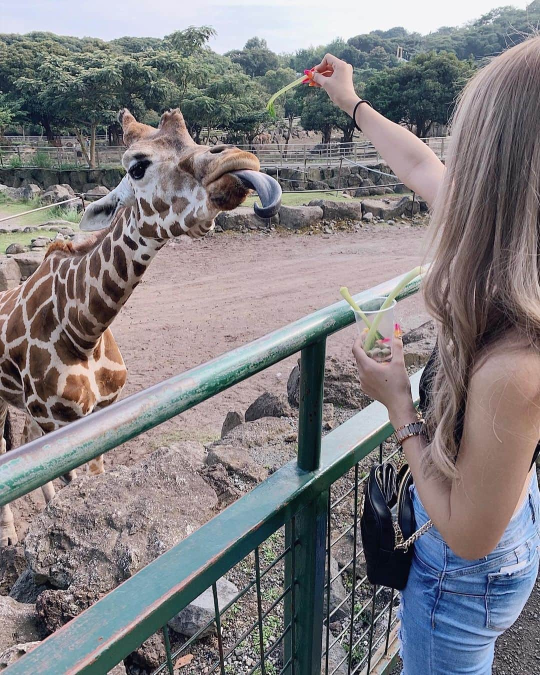
[[[47,634],[51,634],[87,610],[102,595],[80,587],[72,587],[68,591],[47,589],[36,599],[36,612]]]

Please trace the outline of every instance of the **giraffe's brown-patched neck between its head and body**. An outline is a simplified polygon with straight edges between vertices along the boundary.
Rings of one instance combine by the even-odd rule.
[[[167,240],[145,223],[138,205],[115,218],[101,242],[58,266],[53,293],[63,328],[83,352],[92,350]]]

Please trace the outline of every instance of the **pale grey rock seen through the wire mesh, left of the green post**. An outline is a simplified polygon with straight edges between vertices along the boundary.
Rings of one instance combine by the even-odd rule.
[[[238,595],[238,588],[227,581],[225,577],[217,580],[217,604],[219,609],[225,607],[236,595]],[[192,637],[201,628],[203,628],[215,616],[214,610],[214,594],[211,588],[201,593],[192,603],[176,616],[169,620],[169,626],[186,637]],[[207,630],[202,632],[200,637],[207,637],[216,633],[215,624],[211,624]]]

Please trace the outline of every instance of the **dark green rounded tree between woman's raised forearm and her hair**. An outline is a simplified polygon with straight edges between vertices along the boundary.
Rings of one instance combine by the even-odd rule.
[[[365,97],[386,117],[426,136],[433,123],[448,124],[456,97],[472,73],[455,54],[421,54],[400,68],[377,73]]]

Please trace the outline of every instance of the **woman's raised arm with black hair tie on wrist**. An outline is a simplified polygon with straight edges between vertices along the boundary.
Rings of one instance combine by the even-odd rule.
[[[327,54],[316,66],[313,79],[330,99],[352,117],[360,98],[354,91],[352,65]],[[439,190],[444,172],[437,155],[410,131],[386,119],[369,105],[356,108],[356,123],[404,184],[428,204]]]

